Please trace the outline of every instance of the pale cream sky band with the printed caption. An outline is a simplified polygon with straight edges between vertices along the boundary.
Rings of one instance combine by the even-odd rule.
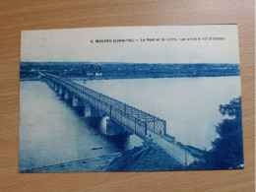
[[[239,63],[237,25],[23,31],[21,40],[25,62]]]

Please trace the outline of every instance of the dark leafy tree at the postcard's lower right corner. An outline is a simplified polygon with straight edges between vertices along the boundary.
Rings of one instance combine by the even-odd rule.
[[[220,112],[227,116],[218,126],[213,149],[204,153],[203,160],[191,164],[193,169],[231,169],[243,164],[241,96],[228,104],[220,105]]]

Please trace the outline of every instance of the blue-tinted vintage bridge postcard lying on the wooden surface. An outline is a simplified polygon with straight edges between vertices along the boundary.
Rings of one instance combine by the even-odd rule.
[[[237,25],[21,40],[20,172],[244,167]]]

